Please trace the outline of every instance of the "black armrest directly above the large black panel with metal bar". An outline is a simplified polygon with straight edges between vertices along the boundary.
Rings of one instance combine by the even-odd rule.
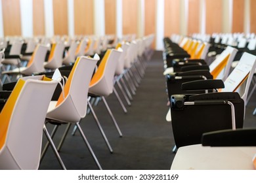
[[[195,80],[184,82],[181,85],[182,90],[213,90],[224,88],[223,80]]]

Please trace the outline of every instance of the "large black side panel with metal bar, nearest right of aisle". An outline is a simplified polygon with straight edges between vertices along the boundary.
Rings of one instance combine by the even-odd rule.
[[[203,133],[242,128],[244,101],[236,92],[172,95],[171,124],[177,148],[200,144]]]

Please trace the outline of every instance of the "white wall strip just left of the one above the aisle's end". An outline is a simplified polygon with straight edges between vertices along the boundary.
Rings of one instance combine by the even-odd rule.
[[[145,32],[145,2],[144,0],[138,1],[138,22],[137,22],[137,37],[143,37]]]

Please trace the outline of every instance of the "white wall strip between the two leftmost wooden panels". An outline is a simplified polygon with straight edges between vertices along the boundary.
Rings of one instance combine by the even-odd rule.
[[[33,2],[20,0],[20,23],[22,37],[33,37]]]

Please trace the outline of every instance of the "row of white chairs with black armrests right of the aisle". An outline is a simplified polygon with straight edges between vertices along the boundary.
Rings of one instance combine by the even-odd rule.
[[[203,169],[207,167],[207,164],[196,165],[196,163],[202,162],[200,161],[202,154],[195,156],[201,150],[204,153],[205,148],[202,148],[201,144],[214,146],[214,144],[221,143],[218,141],[223,141],[222,146],[230,145],[228,144],[230,141],[225,143],[224,139],[215,138],[211,138],[210,142],[205,143],[205,139],[209,137],[207,133],[211,131],[218,131],[214,132],[214,135],[228,134],[230,138],[230,134],[236,133],[236,135],[240,135],[240,138],[245,138],[245,146],[255,146],[255,141],[253,141],[255,129],[244,129],[244,131],[240,129],[243,128],[245,105],[248,100],[247,93],[255,72],[256,56],[244,52],[238,65],[232,70],[230,67],[238,50],[232,46],[226,46],[210,65],[202,67],[205,65],[202,60],[196,60],[195,63],[195,60],[190,59],[193,46],[184,46],[190,44],[188,38],[185,39],[183,46],[173,43],[169,38],[165,38],[163,42],[165,44],[164,75],[167,79],[167,93],[170,103],[167,120],[172,124],[175,144],[178,148],[171,169],[189,169],[190,166],[192,169]],[[173,49],[177,46],[178,51]],[[177,59],[179,60],[177,61]],[[171,62],[169,65],[172,67],[166,68],[167,62]],[[179,63],[179,67],[176,63]],[[254,89],[252,89],[253,91]],[[205,137],[204,140],[202,137]],[[214,137],[218,136],[215,135]],[[231,144],[241,146],[242,140]],[[208,158],[209,150],[207,149],[207,152],[205,150],[208,153],[206,155]],[[252,148],[248,153],[251,154],[252,158]],[[195,161],[194,157],[198,157],[196,159],[198,162]],[[214,163],[211,161],[210,164],[213,165]],[[209,165],[209,169],[211,169],[211,165]],[[248,168],[248,165],[245,167]],[[241,168],[245,167],[242,166]],[[253,167],[252,161],[249,167],[249,169]]]

